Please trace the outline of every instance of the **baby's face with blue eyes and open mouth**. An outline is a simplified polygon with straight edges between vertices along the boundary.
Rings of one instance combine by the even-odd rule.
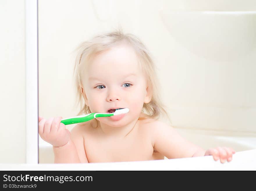
[[[150,101],[147,82],[138,57],[127,45],[118,45],[96,55],[83,76],[84,99],[92,113],[110,108],[129,108],[120,120],[99,117],[111,126],[121,126],[139,117],[143,103]]]

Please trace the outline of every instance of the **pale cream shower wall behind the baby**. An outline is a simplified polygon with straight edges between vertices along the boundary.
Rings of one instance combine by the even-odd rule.
[[[77,115],[72,51],[121,26],[152,53],[181,133],[256,136],[256,1],[39,0],[38,10],[40,116]]]

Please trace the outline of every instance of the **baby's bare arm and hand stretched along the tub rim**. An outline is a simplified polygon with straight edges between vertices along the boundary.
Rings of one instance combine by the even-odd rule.
[[[182,138],[179,133],[171,126],[156,121],[152,126],[152,139],[154,150],[162,153],[167,158],[186,158],[196,156],[212,155],[214,160],[220,159],[224,163],[232,160],[234,150],[227,147],[217,147],[205,151],[201,147]]]

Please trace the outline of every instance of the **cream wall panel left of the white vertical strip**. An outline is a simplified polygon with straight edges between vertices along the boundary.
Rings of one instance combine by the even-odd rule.
[[[0,163],[25,163],[25,4],[0,1]]]

